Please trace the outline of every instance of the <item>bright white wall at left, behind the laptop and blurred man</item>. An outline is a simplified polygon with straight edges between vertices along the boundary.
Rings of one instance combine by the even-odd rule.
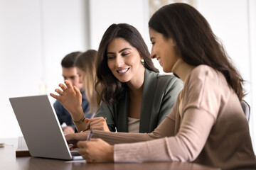
[[[83,0],[0,0],[0,138],[21,135],[9,98],[54,91],[62,58],[87,49],[85,8]]]

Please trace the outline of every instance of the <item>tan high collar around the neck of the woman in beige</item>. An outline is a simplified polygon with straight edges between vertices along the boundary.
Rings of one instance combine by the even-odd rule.
[[[183,62],[182,59],[179,59],[175,64],[173,69],[171,70],[174,74],[176,74],[184,83],[188,77],[188,74],[191,70],[195,68],[195,66],[189,65],[186,62]]]

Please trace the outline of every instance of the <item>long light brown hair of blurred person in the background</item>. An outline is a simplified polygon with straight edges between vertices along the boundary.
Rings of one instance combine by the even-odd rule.
[[[77,57],[75,60],[75,67],[79,68],[84,72],[84,88],[87,100],[90,105],[89,113],[95,113],[97,108],[100,106],[100,98],[95,91],[94,84],[96,79],[96,60],[97,51],[87,50]]]

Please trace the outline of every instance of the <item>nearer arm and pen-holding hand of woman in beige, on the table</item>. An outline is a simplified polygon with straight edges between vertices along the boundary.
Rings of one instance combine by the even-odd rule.
[[[206,111],[191,108],[184,115],[180,131],[175,137],[119,144],[114,147],[103,140],[92,139],[78,142],[80,148],[78,152],[87,162],[192,162],[201,152],[214,120]],[[129,137],[130,133],[119,134],[121,136],[126,134]],[[146,134],[137,135],[136,137],[143,137]]]

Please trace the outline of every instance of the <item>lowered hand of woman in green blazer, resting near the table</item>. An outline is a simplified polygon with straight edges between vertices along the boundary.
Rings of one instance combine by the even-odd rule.
[[[92,118],[92,119],[85,119],[86,128],[90,128],[90,130],[104,130],[106,132],[110,132],[106,119],[103,117],[99,118]]]

